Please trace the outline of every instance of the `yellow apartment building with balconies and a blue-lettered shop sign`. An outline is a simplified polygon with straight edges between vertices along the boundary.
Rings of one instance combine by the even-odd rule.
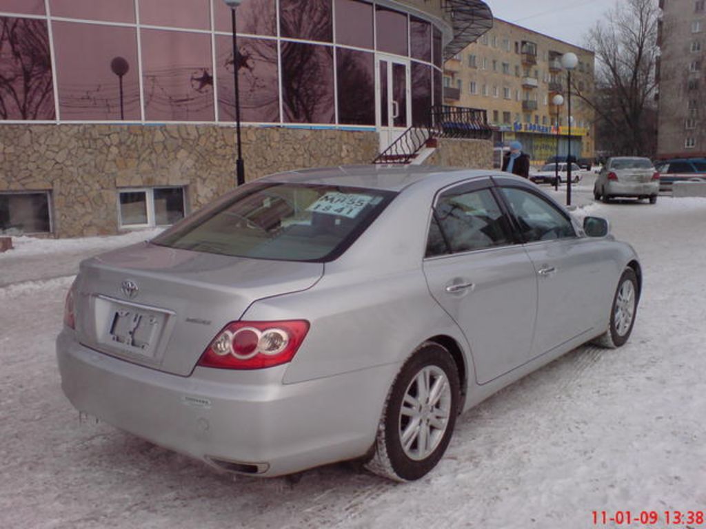
[[[495,19],[493,29],[444,65],[444,102],[486,109],[498,128],[496,147],[522,142],[535,164],[558,151],[568,152],[567,73],[561,56],[572,51],[578,66],[571,74],[575,89],[590,95],[594,88],[592,51],[519,25]],[[552,98],[561,94],[561,108]],[[594,114],[580,99],[571,98],[571,153],[594,157]],[[558,119],[557,119],[558,117]]]

